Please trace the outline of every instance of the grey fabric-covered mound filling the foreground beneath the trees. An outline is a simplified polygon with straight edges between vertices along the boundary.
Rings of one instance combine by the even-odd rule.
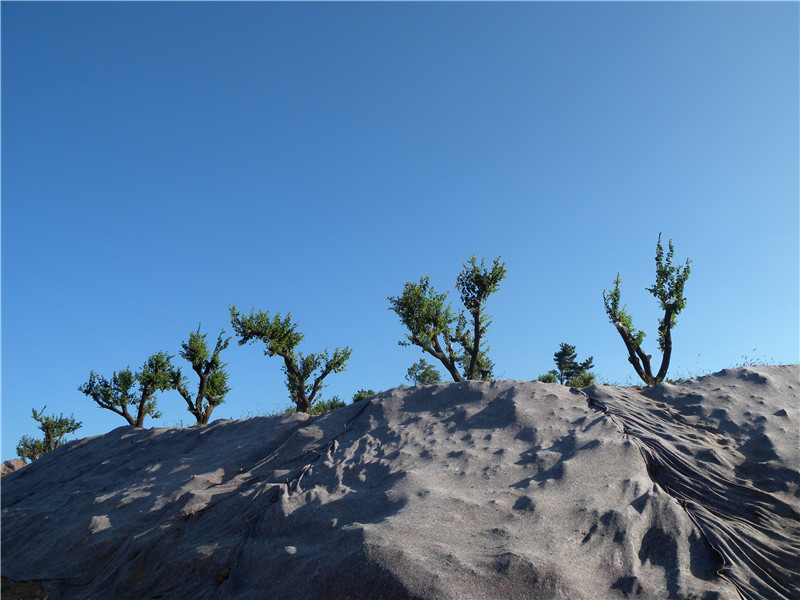
[[[3,598],[798,598],[799,392],[748,367],[120,427],[2,479]]]

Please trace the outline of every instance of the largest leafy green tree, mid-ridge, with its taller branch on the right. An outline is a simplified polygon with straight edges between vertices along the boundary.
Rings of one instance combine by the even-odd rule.
[[[473,254],[456,280],[466,314],[456,314],[447,302],[447,292],[436,292],[427,275],[419,283],[405,283],[400,296],[388,298],[389,309],[397,313],[409,331],[407,341],[400,341],[400,345],[422,348],[442,363],[453,381],[491,379],[494,365],[485,345],[490,320],[484,309],[487,298],[497,291],[505,275],[505,265],[499,257],[487,269],[484,260],[478,264]]]

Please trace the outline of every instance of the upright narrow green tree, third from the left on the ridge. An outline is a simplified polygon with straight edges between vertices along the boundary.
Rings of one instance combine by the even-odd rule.
[[[206,334],[197,331],[189,334],[189,339],[181,343],[181,358],[189,362],[192,370],[200,379],[197,393],[192,397],[188,389],[188,381],[183,377],[180,369],[172,371],[172,387],[186,401],[187,408],[197,420],[195,426],[205,425],[211,418],[214,408],[225,402],[225,395],[231,390],[228,386],[227,366],[220,360],[220,352],[228,347],[231,338],[222,338],[225,331],[217,337],[214,350],[211,351],[206,342]]]

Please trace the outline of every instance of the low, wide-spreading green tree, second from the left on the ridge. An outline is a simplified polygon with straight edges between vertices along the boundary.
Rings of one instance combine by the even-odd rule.
[[[92,371],[89,381],[79,385],[78,391],[89,396],[100,408],[120,415],[129,425],[143,427],[146,416],[161,418],[161,413],[157,410],[156,392],[173,388],[174,368],[170,363],[171,358],[165,352],[157,352],[136,373],[128,367],[119,372],[114,371],[110,380]],[[134,390],[133,387],[137,384],[138,387]],[[130,413],[129,406],[136,409],[136,416]]]

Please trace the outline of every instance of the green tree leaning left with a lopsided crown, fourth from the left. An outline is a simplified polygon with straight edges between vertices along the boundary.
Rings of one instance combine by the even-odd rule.
[[[239,336],[242,346],[255,340],[265,345],[266,356],[280,356],[283,359],[283,371],[286,374],[286,387],[289,396],[297,407],[297,412],[308,412],[320,389],[322,381],[331,373],[344,371],[352,350],[345,346],[336,348],[333,355],[325,350],[319,354],[303,355],[295,350],[303,340],[303,334],[297,331],[297,323],[292,322],[292,315],[282,318],[280,313],[273,317],[262,311],[250,311],[250,315],[240,314],[235,306],[229,307],[231,325]]]

